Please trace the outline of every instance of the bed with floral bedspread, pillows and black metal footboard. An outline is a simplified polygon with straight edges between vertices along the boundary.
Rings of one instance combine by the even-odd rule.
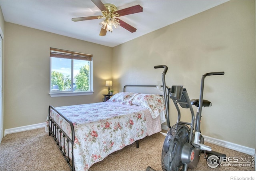
[[[71,170],[90,166],[138,140],[160,132],[164,98],[120,92],[106,102],[49,106],[46,131],[53,136]]]

